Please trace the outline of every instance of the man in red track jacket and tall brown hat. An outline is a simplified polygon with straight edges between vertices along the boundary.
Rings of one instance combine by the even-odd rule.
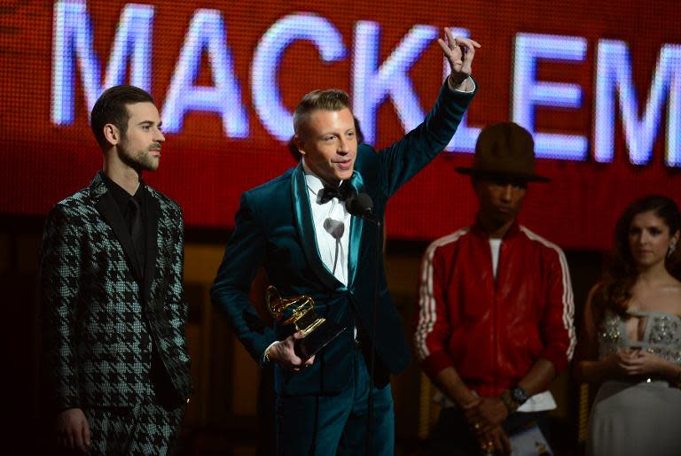
[[[432,243],[421,265],[414,336],[442,391],[433,454],[510,453],[533,423],[546,434],[547,390],[575,347],[573,295],[560,248],[518,224],[534,174],[534,142],[513,122],[482,130],[470,174],[471,227]]]

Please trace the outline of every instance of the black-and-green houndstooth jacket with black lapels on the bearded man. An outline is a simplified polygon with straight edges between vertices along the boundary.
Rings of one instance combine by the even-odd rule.
[[[145,189],[144,274],[101,172],[48,215],[40,262],[43,342],[59,409],[152,398],[154,346],[177,403],[192,394],[182,211]]]

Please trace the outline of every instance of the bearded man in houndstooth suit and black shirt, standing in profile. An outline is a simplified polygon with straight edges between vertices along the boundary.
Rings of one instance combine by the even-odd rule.
[[[145,185],[160,117],[142,89],[107,89],[90,114],[104,166],[48,215],[41,251],[47,372],[59,446],[172,453],[192,394],[175,201]]]

